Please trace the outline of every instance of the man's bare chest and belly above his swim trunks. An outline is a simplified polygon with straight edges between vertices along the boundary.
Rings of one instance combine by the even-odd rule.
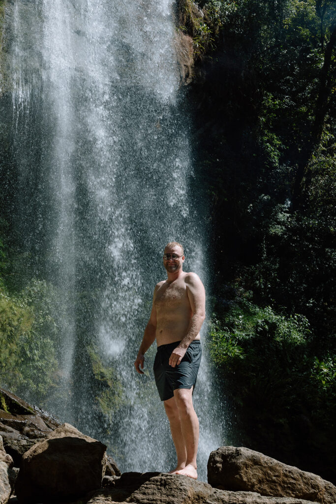
[[[157,345],[180,341],[187,333],[192,310],[187,293],[187,273],[173,282],[162,281],[157,285],[154,306],[156,308]],[[195,340],[199,340],[199,334]]]

